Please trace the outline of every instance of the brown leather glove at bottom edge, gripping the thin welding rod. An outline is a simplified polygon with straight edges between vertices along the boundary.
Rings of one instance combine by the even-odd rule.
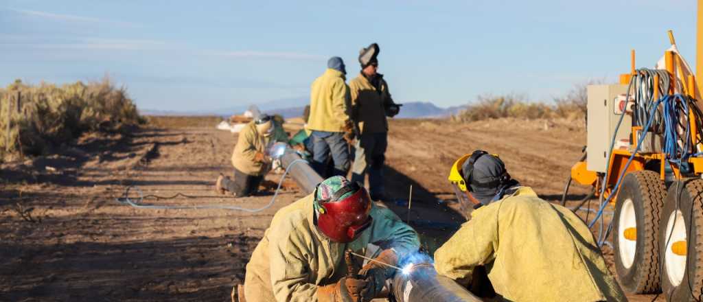
[[[335,284],[317,287],[320,302],[364,302],[371,301],[370,284],[363,279],[342,277]]]

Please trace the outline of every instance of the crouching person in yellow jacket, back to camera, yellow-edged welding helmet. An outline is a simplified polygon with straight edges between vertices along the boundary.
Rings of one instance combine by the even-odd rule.
[[[513,180],[496,155],[465,155],[450,181],[477,209],[434,252],[437,272],[471,282],[482,265],[508,301],[626,301],[586,224]]]

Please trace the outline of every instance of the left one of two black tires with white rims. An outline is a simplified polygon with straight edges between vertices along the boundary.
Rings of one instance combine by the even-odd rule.
[[[664,197],[666,188],[659,173],[634,171],[622,180],[613,216],[613,245],[615,271],[623,289],[630,293],[659,291],[657,239]]]

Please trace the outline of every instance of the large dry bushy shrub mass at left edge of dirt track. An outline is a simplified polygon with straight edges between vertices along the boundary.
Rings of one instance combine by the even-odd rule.
[[[14,105],[18,92],[20,110]],[[12,108],[8,100],[12,100]],[[6,154],[21,150],[39,155],[84,131],[114,130],[143,122],[127,90],[115,88],[109,79],[62,86],[44,82],[31,86],[16,80],[0,88],[0,102],[0,150]],[[9,133],[5,131],[8,123]]]

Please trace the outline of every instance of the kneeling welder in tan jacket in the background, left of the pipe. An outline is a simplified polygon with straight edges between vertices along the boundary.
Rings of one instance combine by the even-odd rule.
[[[219,194],[230,192],[236,197],[257,193],[259,184],[271,170],[271,158],[266,155],[266,148],[271,143],[288,142],[288,135],[281,124],[268,114],[260,114],[244,126],[232,152],[234,179],[220,174],[215,191]]]

